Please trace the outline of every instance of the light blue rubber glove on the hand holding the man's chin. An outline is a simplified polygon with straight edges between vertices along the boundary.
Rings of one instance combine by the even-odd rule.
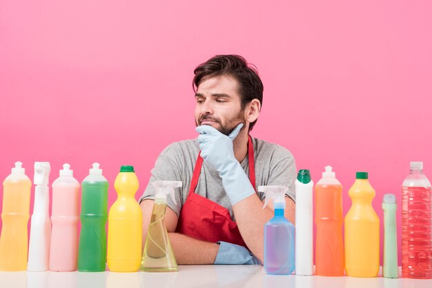
[[[219,172],[231,205],[255,194],[251,181],[234,156],[233,140],[242,127],[243,124],[240,123],[228,136],[209,125],[196,128],[200,134],[198,143],[201,156],[206,163]]]

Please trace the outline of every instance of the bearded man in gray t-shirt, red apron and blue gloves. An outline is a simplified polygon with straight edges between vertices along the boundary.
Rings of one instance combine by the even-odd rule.
[[[294,158],[284,147],[249,136],[264,87],[242,56],[215,56],[194,73],[199,136],[168,145],[157,158],[140,199],[144,239],[155,195],[151,183],[181,181],[177,205],[168,198],[165,216],[177,263],[262,263],[273,203],[262,209],[265,195],[256,188],[287,186],[285,216],[294,223]]]

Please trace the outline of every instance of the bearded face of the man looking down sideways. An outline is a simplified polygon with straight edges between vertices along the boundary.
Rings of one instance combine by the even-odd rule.
[[[210,125],[219,132],[228,135],[234,128],[246,120],[242,110],[237,81],[230,76],[215,76],[206,79],[197,88],[195,94],[195,124]]]

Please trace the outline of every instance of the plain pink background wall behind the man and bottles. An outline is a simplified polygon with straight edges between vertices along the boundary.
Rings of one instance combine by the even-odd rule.
[[[332,165],[344,213],[355,172],[369,172],[382,219],[409,161],[432,178],[431,11],[426,0],[3,0],[0,178],[15,161],[30,178],[50,161],[50,183],[66,162],[82,181],[97,161],[111,205],[120,165],[134,165],[138,198],[159,152],[197,135],[195,66],[241,54],[265,87],[253,136],[291,150],[315,183]]]

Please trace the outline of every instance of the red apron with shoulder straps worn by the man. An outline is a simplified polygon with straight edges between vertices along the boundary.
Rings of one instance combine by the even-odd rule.
[[[255,189],[255,161],[251,136],[249,136],[248,140],[248,158],[249,180],[253,189]],[[203,158],[201,157],[201,152],[199,152],[197,163],[193,169],[189,195],[183,207],[181,207],[175,232],[206,242],[216,243],[217,241],[224,241],[247,247],[239,232],[237,223],[231,220],[228,209],[203,196],[195,194],[199,174],[201,174],[202,162]]]

